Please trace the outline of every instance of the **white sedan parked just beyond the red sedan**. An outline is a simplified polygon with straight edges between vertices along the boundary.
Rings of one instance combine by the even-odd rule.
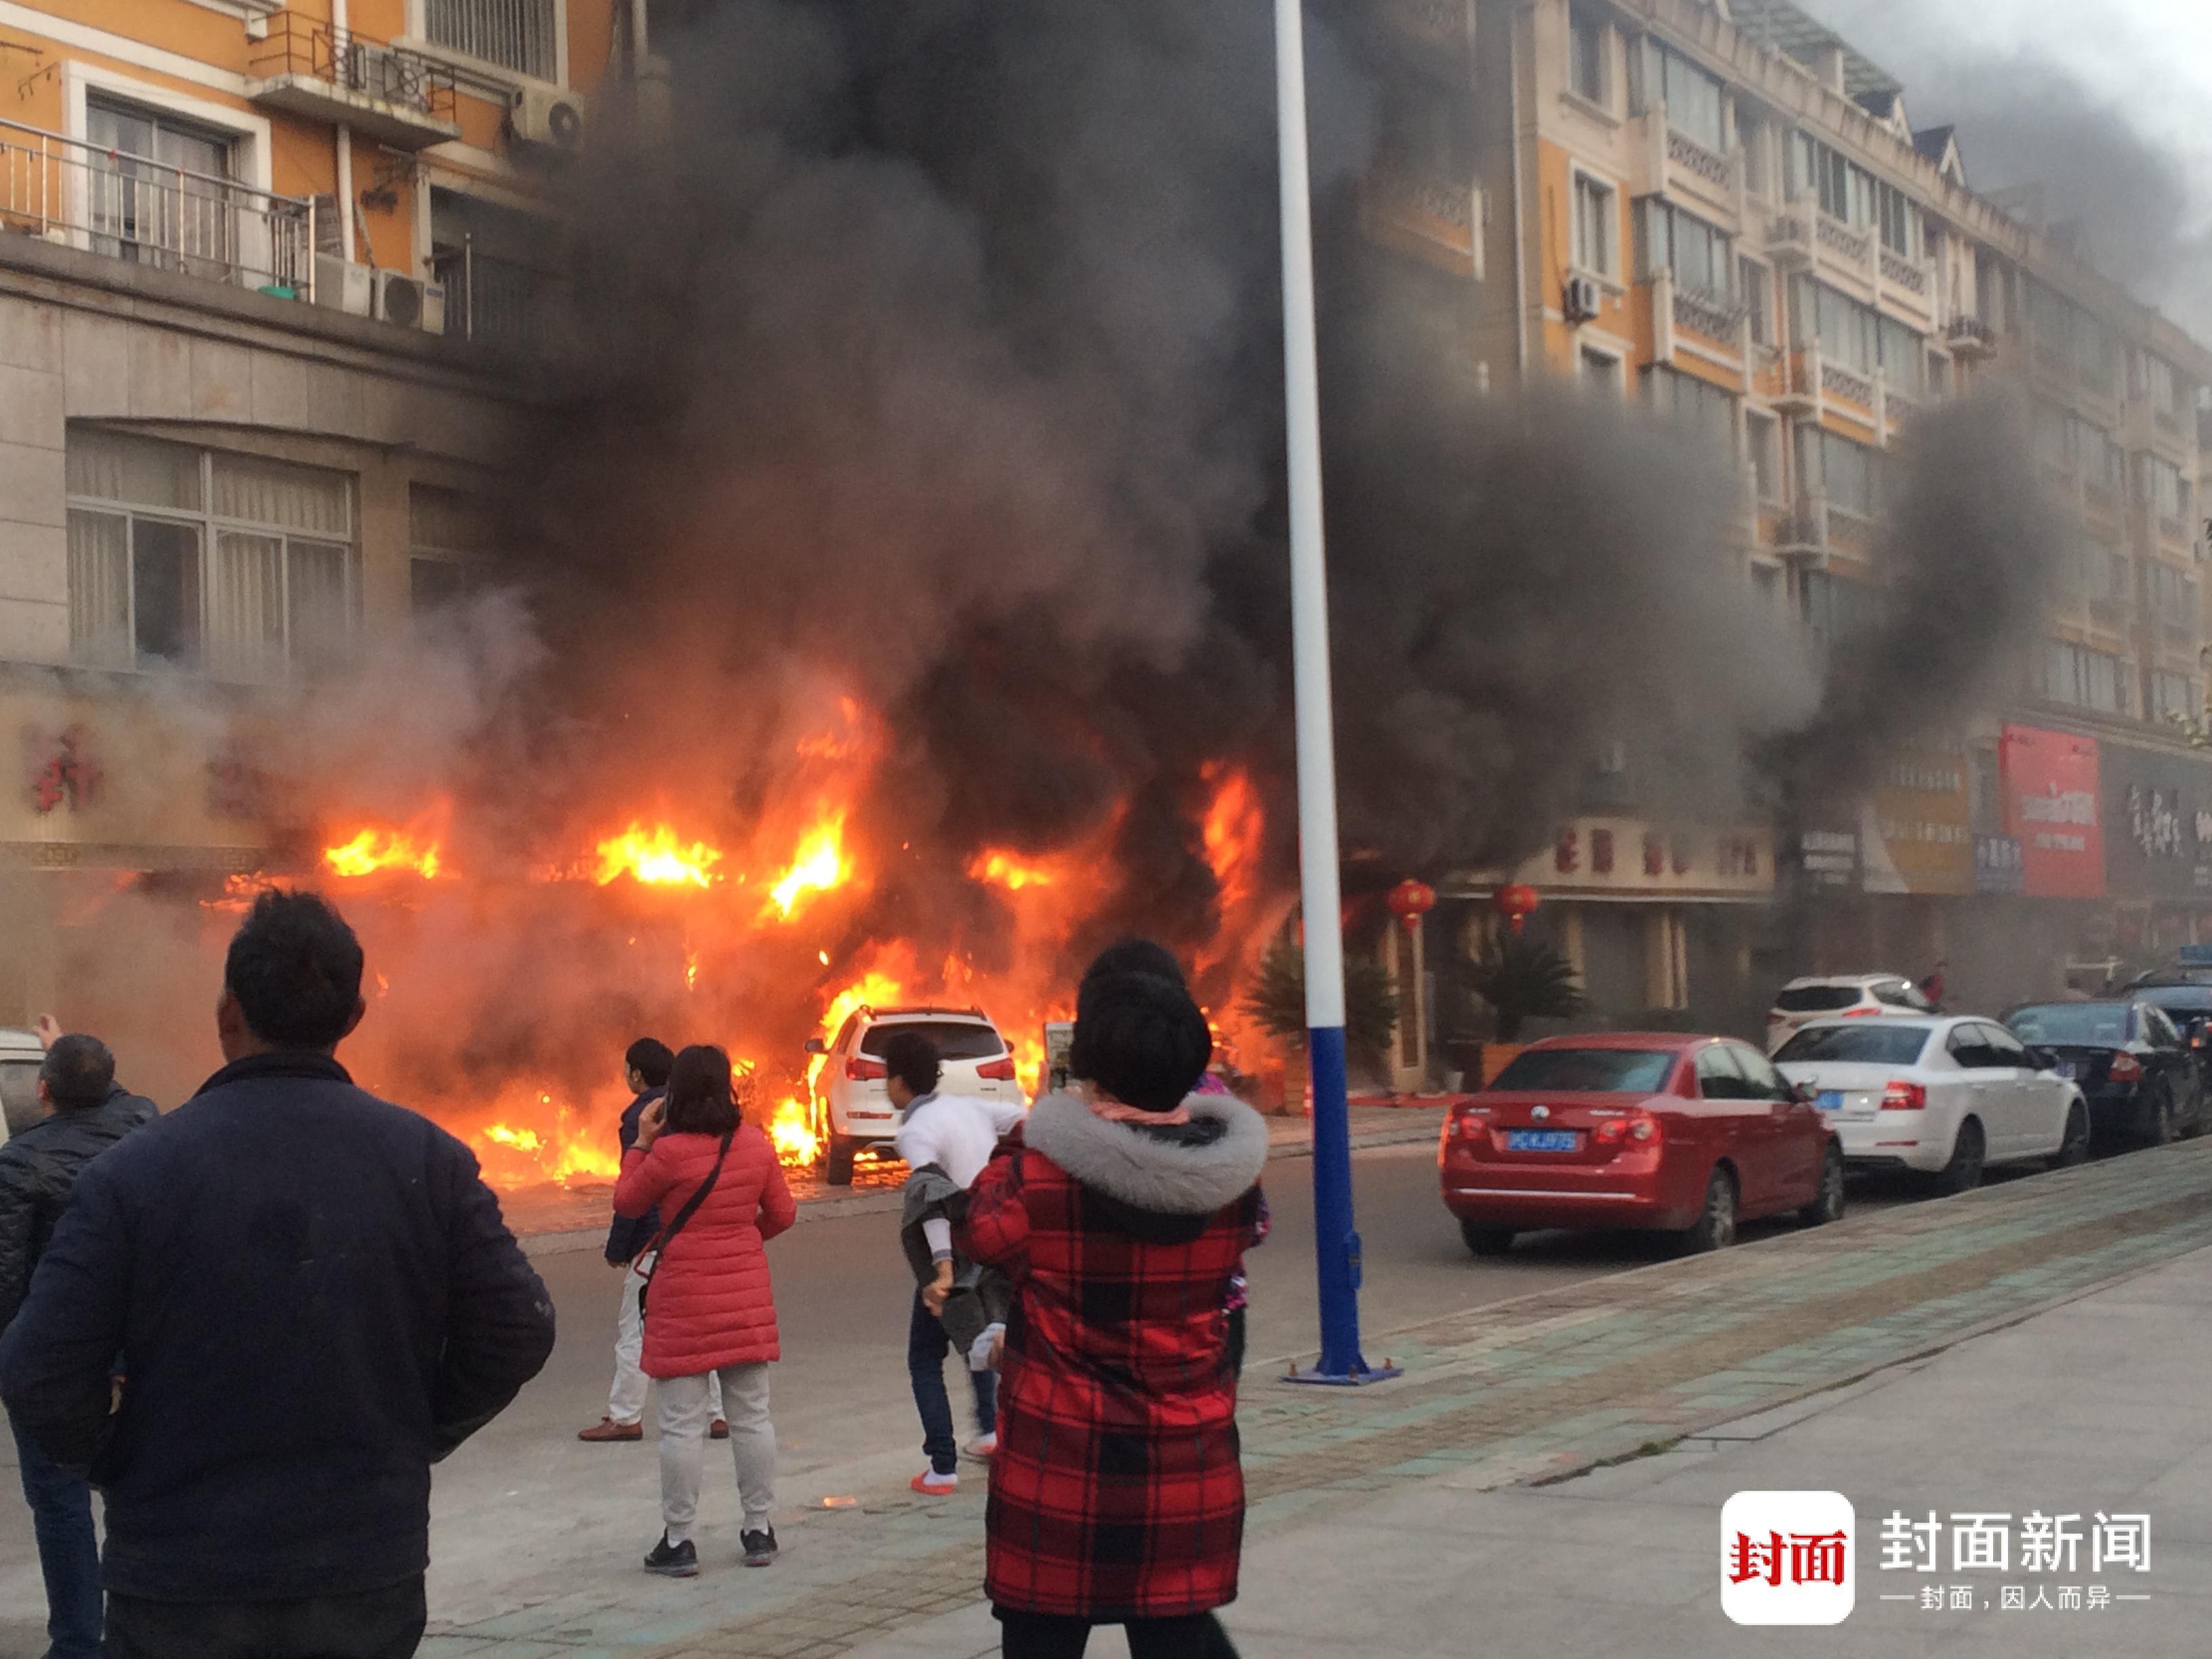
[[[1774,1064],[1814,1095],[1856,1170],[1966,1192],[1989,1164],[2088,1157],[2081,1091],[1995,1020],[1820,1020]]]

